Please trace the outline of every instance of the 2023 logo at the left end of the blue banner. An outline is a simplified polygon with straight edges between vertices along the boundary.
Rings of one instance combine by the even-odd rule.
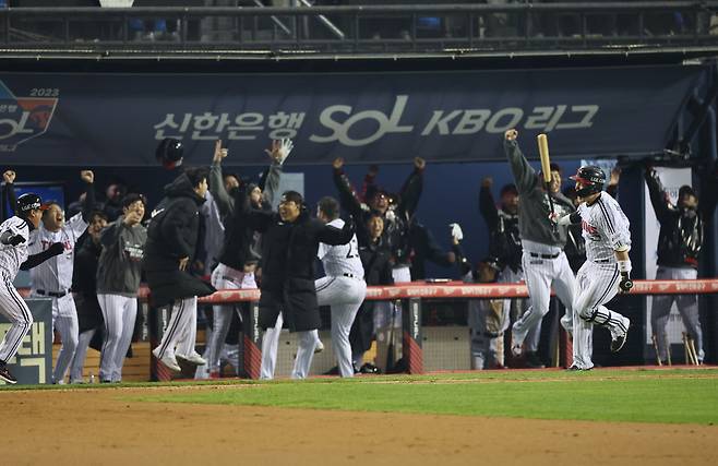
[[[47,131],[58,105],[58,89],[32,89],[29,97],[16,97],[0,81],[0,152],[14,152],[17,145]]]

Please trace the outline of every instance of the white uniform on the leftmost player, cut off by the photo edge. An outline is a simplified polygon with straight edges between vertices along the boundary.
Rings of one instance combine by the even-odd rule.
[[[4,315],[11,326],[0,344],[0,360],[10,362],[33,325],[33,314],[20,296],[12,282],[17,275],[20,264],[27,260],[27,243],[29,241],[29,227],[27,222],[20,217],[10,217],[0,225],[0,235],[10,231],[25,239],[17,246],[0,244],[0,314]]]

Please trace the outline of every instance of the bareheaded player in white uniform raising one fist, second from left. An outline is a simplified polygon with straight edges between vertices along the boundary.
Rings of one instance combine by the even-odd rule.
[[[60,333],[62,346],[52,372],[52,383],[64,383],[64,375],[77,347],[79,324],[75,301],[72,298],[72,271],[77,239],[87,229],[89,214],[95,205],[95,176],[83,170],[80,178],[85,182],[83,211],[65,223],[62,207],[50,201],[44,205],[43,223],[33,234],[27,246],[31,254],[47,250],[52,243],[64,244],[64,253],[43,263],[31,272],[31,296],[52,300],[52,328]]]

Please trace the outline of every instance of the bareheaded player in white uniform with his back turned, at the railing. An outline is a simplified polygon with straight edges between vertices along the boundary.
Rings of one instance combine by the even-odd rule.
[[[344,227],[339,218],[339,203],[334,198],[322,198],[316,206],[316,217],[337,229]],[[349,332],[367,295],[364,268],[359,258],[357,235],[347,244],[319,244],[316,256],[322,261],[325,277],[316,280],[319,306],[332,308],[332,346],[342,377],[354,377]]]

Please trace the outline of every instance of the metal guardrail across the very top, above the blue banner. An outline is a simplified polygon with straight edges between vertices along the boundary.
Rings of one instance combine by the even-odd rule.
[[[718,1],[10,8],[0,53],[364,58],[718,52]]]

